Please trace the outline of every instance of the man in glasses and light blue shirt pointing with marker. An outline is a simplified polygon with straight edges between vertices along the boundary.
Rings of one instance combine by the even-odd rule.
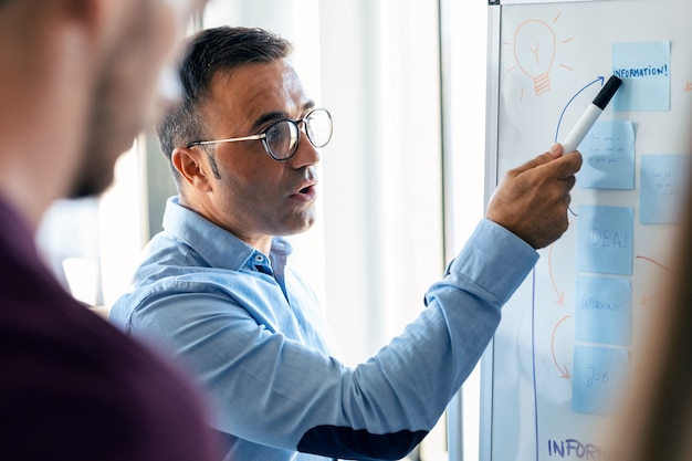
[[[316,149],[332,135],[290,52],[259,29],[211,29],[189,43],[185,102],[159,129],[180,193],[112,321],[191,369],[228,459],[399,459],[473,369],[535,249],[567,229],[581,158],[556,145],[510,171],[419,318],[346,367],[280,237],[313,224]]]

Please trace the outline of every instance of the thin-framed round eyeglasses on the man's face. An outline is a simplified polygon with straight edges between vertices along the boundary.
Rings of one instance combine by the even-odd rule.
[[[218,140],[196,140],[187,145],[189,149],[192,146],[206,146],[218,143],[237,143],[240,140],[260,139],[264,146],[264,150],[274,160],[287,160],[298,148],[301,142],[301,126],[305,126],[305,134],[310,144],[316,148],[324,147],[332,139],[332,114],[326,108],[316,108],[311,111],[305,117],[291,121],[283,119],[275,122],[264,128],[256,135],[243,136],[240,138],[218,139]]]

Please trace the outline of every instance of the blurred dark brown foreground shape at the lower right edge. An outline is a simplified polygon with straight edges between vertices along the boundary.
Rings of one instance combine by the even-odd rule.
[[[692,165],[692,164],[690,164]],[[688,179],[692,169],[688,167]],[[606,432],[615,460],[692,460],[692,187],[688,185],[682,220],[673,243],[670,277],[662,302],[638,349],[622,412]]]

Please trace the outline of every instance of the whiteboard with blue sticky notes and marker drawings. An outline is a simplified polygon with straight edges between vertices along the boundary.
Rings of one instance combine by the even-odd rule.
[[[663,208],[651,196],[656,192],[650,181],[663,172],[674,177],[673,184],[659,178],[653,188],[678,190],[686,182],[675,176],[679,171],[671,166],[675,164],[667,161],[686,159],[692,153],[692,2],[503,3],[489,7],[487,195],[505,171],[563,139],[604,78],[622,69],[621,61],[648,55],[649,44],[670,52],[661,66],[668,90],[651,90],[653,97],[630,93],[617,109],[614,99],[599,119],[612,123],[606,126],[631,127],[631,161],[612,154],[627,151],[627,142],[614,147],[608,143],[616,142],[601,137],[589,147],[591,154],[610,148],[602,157],[589,157],[589,167],[615,163],[621,168],[610,171],[620,179],[631,175],[631,188],[611,187],[614,176],[607,176],[604,186],[579,172],[568,231],[539,251],[535,270],[503,308],[482,360],[482,460],[606,459],[610,448],[604,444],[601,429],[617,408],[621,391],[616,390],[647,371],[638,366],[637,347],[648,319],[657,315],[661,281],[670,272],[674,251],[674,219],[648,218],[652,209]],[[527,24],[533,27],[530,36],[520,38]],[[516,50],[522,43],[524,49]],[[538,53],[544,53],[541,59]],[[547,67],[531,70],[532,60]],[[638,87],[632,75],[623,87]],[[660,107],[662,99],[668,107]],[[668,165],[669,170],[651,165]],[[583,188],[585,181],[593,182]],[[607,217],[610,210],[614,214]],[[595,223],[600,219],[618,221],[612,229],[598,230]],[[620,224],[623,228],[616,228]],[[609,260],[622,262],[622,253],[607,256],[614,244],[618,252],[627,247],[630,261],[623,265],[629,264],[629,271],[608,268]],[[606,298],[611,295],[606,293],[614,286],[622,290],[614,289],[620,290],[612,294],[618,303],[609,304]],[[595,300],[599,296],[604,297]],[[610,307],[612,312],[607,311]]]

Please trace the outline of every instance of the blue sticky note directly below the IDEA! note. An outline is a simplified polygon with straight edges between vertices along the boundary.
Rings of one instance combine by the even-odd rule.
[[[577,276],[575,339],[629,346],[632,289],[629,279]]]

